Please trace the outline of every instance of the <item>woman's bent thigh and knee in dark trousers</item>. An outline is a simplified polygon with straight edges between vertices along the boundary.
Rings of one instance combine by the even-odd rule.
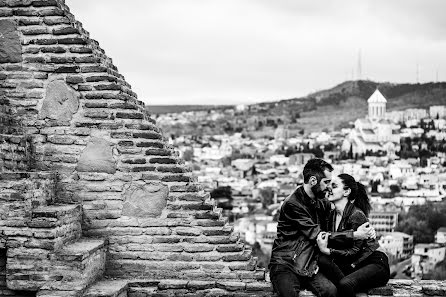
[[[355,270],[339,282],[339,296],[355,297],[357,292],[385,285],[389,270],[382,263],[370,263]]]

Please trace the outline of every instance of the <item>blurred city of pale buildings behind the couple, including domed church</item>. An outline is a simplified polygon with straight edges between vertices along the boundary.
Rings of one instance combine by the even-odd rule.
[[[365,117],[339,130],[305,133],[279,123],[269,136],[253,138],[244,131],[261,120],[248,117],[243,130],[172,134],[169,142],[263,267],[268,265],[281,202],[302,184],[305,163],[320,157],[367,186],[373,206],[369,220],[390,256],[394,278],[444,279],[446,106],[388,112],[378,89],[367,103]],[[233,118],[249,108],[167,113],[157,123],[170,135],[172,126]]]

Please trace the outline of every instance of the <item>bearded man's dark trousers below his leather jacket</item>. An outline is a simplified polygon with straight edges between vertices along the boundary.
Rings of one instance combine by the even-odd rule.
[[[336,286],[320,271],[313,277],[296,275],[285,265],[272,265],[271,283],[280,297],[298,297],[303,289],[311,290],[318,297],[336,297]]]

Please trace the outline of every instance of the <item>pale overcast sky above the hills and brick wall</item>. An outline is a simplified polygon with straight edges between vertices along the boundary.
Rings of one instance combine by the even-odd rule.
[[[444,0],[65,2],[149,105],[304,96],[358,78],[359,56],[362,78],[446,80]]]

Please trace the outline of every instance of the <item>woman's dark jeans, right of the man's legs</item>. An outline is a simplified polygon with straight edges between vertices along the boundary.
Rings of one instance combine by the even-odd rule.
[[[339,296],[355,297],[358,292],[384,286],[390,278],[389,260],[379,251],[373,252],[352,273],[339,281]]]

